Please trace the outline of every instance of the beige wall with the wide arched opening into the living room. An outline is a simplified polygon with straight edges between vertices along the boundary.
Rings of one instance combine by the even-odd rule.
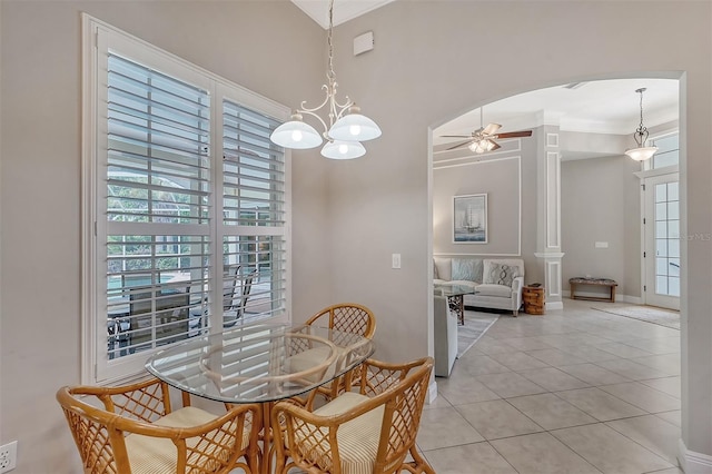
[[[712,230],[711,6],[644,6],[396,1],[339,27],[339,85],[358,98],[384,135],[367,146],[363,160],[329,170],[330,220],[337,224],[333,255],[340,259],[332,263],[330,274],[338,282],[337,299],[357,293],[379,315],[379,355],[411,358],[427,345],[428,128],[482,103],[585,79],[678,78],[685,71],[681,127],[689,158],[681,179],[690,217],[686,231]],[[643,43],[642,26],[649,32]],[[374,31],[374,51],[350,57],[352,39],[368,30]],[[496,53],[482,61],[475,51],[483,48]],[[369,243],[366,253],[360,251],[364,239]],[[688,250],[683,441],[689,450],[712,455],[712,246],[690,241],[684,255]],[[389,268],[392,253],[403,255],[403,269]]]

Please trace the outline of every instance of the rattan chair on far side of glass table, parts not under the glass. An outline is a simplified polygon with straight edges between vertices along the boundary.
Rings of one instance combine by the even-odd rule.
[[[305,324],[328,327],[343,333],[358,334],[369,339],[376,333],[374,312],[356,303],[339,303],[328,306],[307,319]],[[355,371],[356,374],[354,375],[357,375],[358,368]],[[344,392],[344,377],[338,377],[328,385],[317,388],[317,392],[327,401],[334,398]]]

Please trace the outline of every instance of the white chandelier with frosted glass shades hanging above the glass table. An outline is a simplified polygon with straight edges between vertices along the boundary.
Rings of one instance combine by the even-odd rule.
[[[358,158],[366,154],[362,141],[373,140],[380,137],[380,128],[375,121],[360,115],[360,109],[348,96],[344,103],[336,100],[336,73],[334,72],[334,47],[332,37],[334,30],[334,0],[329,1],[329,29],[328,29],[328,51],[329,62],[326,78],[328,83],[322,86],[326,92],[324,101],[313,109],[306,107],[306,100],[301,102],[301,108],[293,112],[291,119],[280,125],[273,131],[270,140],[284,148],[307,149],[316,148],[324,140],[326,145],[322,148],[322,155],[333,159]],[[327,107],[328,126],[317,111]],[[304,121],[304,116],[316,118],[324,128],[319,134],[314,127]]]

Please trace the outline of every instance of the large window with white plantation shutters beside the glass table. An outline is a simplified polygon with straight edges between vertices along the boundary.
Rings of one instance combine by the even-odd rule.
[[[88,17],[85,28],[85,377],[108,382],[168,344],[288,317],[289,172],[269,140],[288,110]]]

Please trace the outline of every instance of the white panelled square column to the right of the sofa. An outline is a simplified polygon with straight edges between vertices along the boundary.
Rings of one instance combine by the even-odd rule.
[[[558,127],[538,130],[536,152],[536,253],[544,263],[546,308],[562,309],[561,154]]]

